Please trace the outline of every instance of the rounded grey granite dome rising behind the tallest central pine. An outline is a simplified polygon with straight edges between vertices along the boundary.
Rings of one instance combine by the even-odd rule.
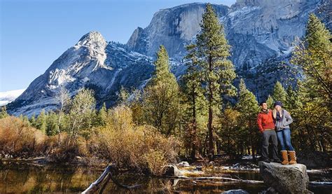
[[[226,15],[228,6],[214,5],[219,17]],[[162,9],[153,15],[148,27],[135,29],[127,42],[128,48],[151,57],[164,45],[170,57],[181,60],[186,55],[185,46],[200,31],[205,4],[185,4]]]

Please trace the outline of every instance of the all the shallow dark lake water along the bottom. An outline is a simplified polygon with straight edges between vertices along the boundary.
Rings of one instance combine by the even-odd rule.
[[[103,169],[74,165],[31,165],[0,161],[0,193],[81,193],[95,181]],[[234,179],[262,180],[258,172],[226,172]],[[319,181],[319,175],[310,175],[310,181]],[[259,193],[267,187],[262,184],[243,184],[221,180],[193,180],[120,174],[115,178],[125,185],[141,185],[136,190],[119,188],[112,181],[105,184],[104,193],[222,193],[244,189]],[[331,193],[331,188],[310,188],[314,193]]]

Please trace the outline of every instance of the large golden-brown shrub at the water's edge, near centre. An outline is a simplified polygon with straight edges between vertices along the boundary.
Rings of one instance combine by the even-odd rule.
[[[177,141],[166,138],[155,127],[134,125],[127,106],[114,108],[107,124],[91,137],[90,151],[120,168],[160,174],[167,162],[175,162]]]

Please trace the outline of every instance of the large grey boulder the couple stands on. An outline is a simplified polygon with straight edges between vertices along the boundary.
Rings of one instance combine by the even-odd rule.
[[[309,176],[305,165],[259,162],[259,172],[264,183],[279,193],[308,193]]]

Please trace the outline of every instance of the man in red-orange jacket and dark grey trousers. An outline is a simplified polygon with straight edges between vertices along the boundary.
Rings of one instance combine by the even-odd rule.
[[[275,132],[275,123],[273,123],[272,111],[268,109],[266,102],[261,102],[261,111],[257,116],[257,125],[262,133],[262,158],[263,162],[270,162],[268,154],[269,140],[272,139],[272,162],[282,162],[277,155],[278,140]]]

